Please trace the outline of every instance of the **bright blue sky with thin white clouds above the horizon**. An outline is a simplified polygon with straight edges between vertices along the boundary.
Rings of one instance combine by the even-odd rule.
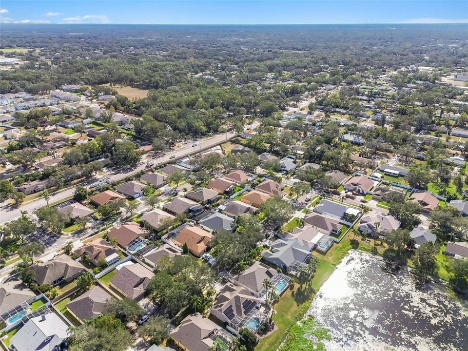
[[[468,23],[467,0],[1,0],[3,23]]]

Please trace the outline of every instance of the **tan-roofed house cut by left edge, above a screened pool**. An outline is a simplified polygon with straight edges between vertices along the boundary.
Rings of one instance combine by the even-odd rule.
[[[0,314],[35,298],[36,294],[27,288],[19,278],[12,277],[0,285]]]

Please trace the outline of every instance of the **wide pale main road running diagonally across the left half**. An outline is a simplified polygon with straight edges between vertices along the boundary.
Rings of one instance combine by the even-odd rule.
[[[254,122],[252,128],[254,129],[256,126],[258,126],[258,124],[259,122]],[[193,154],[197,152],[198,150],[214,147],[222,143],[223,141],[230,139],[234,136],[235,136],[234,132],[229,132],[229,133],[219,134],[213,137],[203,138],[197,141],[197,146],[195,147],[192,146],[193,145],[192,143],[188,143],[188,145],[186,145],[183,148],[180,148],[175,151],[171,151],[159,157],[155,157],[149,162],[150,164],[156,164],[157,162],[160,162],[161,164],[168,163],[168,162],[174,161],[175,159],[183,158],[185,156]],[[171,158],[171,156],[174,156],[174,157]],[[147,167],[147,163],[143,162],[141,164],[138,164],[137,167],[133,167],[131,169],[119,170],[117,171],[117,173],[104,175],[104,176],[108,176],[112,182],[115,182],[115,181],[125,179],[126,177],[129,177],[129,176],[135,176],[138,172],[140,172],[141,170],[144,170],[146,167]],[[66,188],[57,194],[51,195],[49,203],[60,201],[66,197],[72,196],[74,193],[75,193],[74,187]],[[46,205],[46,201],[43,198],[38,198],[34,201],[22,204],[20,207],[11,207],[8,205],[3,205],[0,208],[0,224],[19,218],[21,216],[21,211],[25,211],[28,213],[28,215],[33,217],[32,214],[34,213],[34,211],[45,205]]]

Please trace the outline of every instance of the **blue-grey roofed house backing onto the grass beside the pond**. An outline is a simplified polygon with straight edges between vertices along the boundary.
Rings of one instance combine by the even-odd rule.
[[[269,251],[262,253],[262,258],[287,273],[296,273],[307,266],[311,252],[297,240],[278,239],[273,242]]]

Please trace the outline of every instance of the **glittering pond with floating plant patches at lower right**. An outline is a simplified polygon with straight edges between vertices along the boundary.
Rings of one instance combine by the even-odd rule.
[[[351,251],[315,296],[309,313],[330,329],[328,351],[468,351],[467,303],[382,267]]]

